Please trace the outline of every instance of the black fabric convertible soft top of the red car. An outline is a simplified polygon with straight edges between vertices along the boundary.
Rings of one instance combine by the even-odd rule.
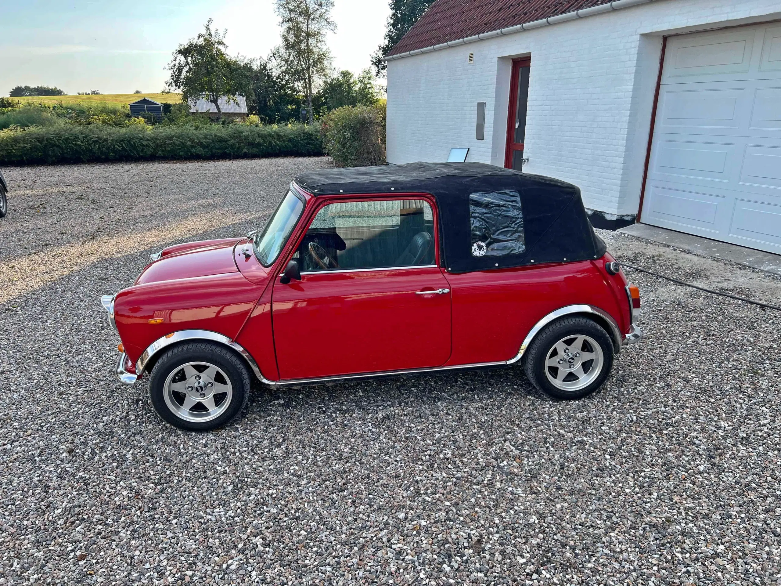
[[[295,183],[316,196],[433,195],[440,214],[443,266],[453,273],[597,259],[606,250],[583,209],[580,189],[551,177],[483,163],[408,163],[319,169],[301,173]],[[482,242],[477,249],[473,246],[475,214],[470,203],[476,205],[491,194],[506,198],[507,193],[520,196],[525,249],[486,254]],[[490,212],[488,216],[490,223]],[[494,216],[494,220],[503,221],[501,216]],[[517,223],[515,219],[507,221]]]

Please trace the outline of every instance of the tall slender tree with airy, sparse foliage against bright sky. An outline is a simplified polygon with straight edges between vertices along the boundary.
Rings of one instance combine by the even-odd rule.
[[[330,70],[326,32],[336,30],[331,9],[333,0],[276,0],[282,42],[273,55],[281,76],[305,95],[310,124],[315,120],[312,95]]]

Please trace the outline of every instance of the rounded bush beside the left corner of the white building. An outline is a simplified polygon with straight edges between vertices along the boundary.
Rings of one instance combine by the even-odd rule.
[[[384,105],[332,110],[323,118],[320,132],[323,149],[337,167],[385,164]]]

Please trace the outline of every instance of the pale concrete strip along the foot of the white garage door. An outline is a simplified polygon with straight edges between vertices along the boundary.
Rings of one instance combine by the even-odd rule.
[[[683,232],[649,226],[645,223],[635,223],[618,231],[644,240],[680,248],[686,252],[728,260],[739,265],[751,266],[754,269],[781,275],[781,255],[774,255],[772,252],[762,252],[754,250],[754,248],[701,238],[693,234],[683,234]]]

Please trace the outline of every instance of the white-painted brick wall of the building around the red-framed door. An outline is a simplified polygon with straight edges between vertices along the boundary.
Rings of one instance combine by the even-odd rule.
[[[503,165],[511,59],[531,55],[524,170],[578,185],[589,208],[635,214],[662,36],[779,18],[779,0],[657,0],[391,61],[388,161],[469,147],[469,161]]]

